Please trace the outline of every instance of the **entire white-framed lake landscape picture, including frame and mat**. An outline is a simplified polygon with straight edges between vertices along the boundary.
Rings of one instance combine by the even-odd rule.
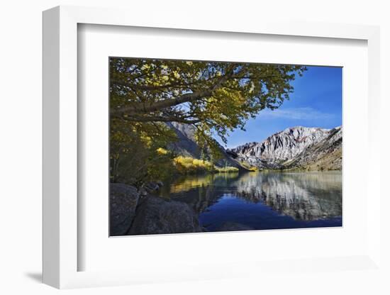
[[[128,15],[43,13],[43,281],[379,269],[379,29]]]

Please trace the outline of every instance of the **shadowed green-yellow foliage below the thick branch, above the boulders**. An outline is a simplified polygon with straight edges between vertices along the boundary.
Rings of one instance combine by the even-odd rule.
[[[138,185],[166,177],[174,169],[173,155],[159,147],[174,140],[174,132],[162,123],[111,119],[111,181]]]

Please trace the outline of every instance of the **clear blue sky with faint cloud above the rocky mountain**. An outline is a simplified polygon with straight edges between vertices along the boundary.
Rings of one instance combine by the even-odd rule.
[[[266,139],[288,127],[333,128],[342,125],[342,68],[308,67],[293,82],[294,93],[274,111],[260,111],[247,121],[246,131],[235,130],[227,147]]]

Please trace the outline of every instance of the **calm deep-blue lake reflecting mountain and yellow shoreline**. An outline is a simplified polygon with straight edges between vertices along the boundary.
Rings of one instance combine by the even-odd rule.
[[[207,231],[342,226],[342,173],[247,172],[165,181],[160,196],[182,201]]]

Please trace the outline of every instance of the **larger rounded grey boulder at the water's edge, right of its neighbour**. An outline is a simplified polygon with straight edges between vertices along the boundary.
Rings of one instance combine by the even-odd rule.
[[[130,235],[201,232],[198,216],[187,204],[146,196],[140,201]]]

